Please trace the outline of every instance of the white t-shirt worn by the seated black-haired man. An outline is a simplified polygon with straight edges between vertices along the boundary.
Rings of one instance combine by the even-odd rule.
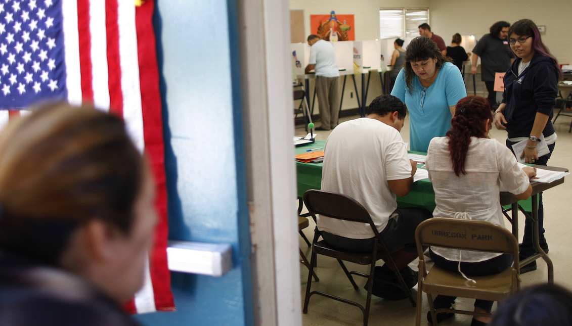
[[[411,177],[399,132],[381,121],[358,118],[341,123],[324,146],[321,190],[342,193],[362,204],[382,231],[397,208],[387,180]],[[319,230],[347,238],[375,236],[370,225],[319,216]]]

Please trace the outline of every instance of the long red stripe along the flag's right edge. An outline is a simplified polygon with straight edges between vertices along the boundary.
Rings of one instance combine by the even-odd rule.
[[[154,262],[150,274],[157,310],[173,311],[175,307],[170,291],[170,272],[168,268],[161,268],[167,266],[165,248],[168,237],[168,215],[159,71],[152,20],[153,2],[154,0],[146,0],[144,5],[136,8],[135,15],[145,152],[149,157],[156,182],[155,207],[160,216],[155,232],[155,245],[150,252],[150,259]]]

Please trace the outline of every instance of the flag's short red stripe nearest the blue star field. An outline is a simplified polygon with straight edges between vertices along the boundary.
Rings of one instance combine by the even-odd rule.
[[[93,103],[92,41],[89,31],[89,0],[77,1],[78,33],[80,35],[80,71],[82,99]]]

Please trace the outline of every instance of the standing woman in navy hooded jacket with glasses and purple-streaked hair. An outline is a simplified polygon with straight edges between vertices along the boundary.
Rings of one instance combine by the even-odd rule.
[[[522,153],[526,163],[546,165],[554,150],[556,133],[551,119],[558,94],[558,80],[562,77],[558,62],[542,43],[538,27],[530,19],[521,19],[509,29],[510,47],[517,59],[505,74],[505,92],[502,104],[494,113],[497,129],[506,129],[507,146],[512,150],[515,142],[528,140]],[[537,144],[545,137],[550,153],[538,157]],[[538,200],[539,240],[541,248],[548,252],[544,237],[542,193]],[[532,223],[525,224],[521,244],[521,260],[536,253],[532,244]],[[536,262],[521,267],[521,273],[534,271]]]

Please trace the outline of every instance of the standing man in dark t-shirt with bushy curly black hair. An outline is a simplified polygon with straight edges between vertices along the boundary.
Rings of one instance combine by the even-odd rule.
[[[500,21],[492,24],[490,34],[484,35],[472,50],[471,73],[476,74],[476,61],[480,57],[480,79],[487,86],[488,102],[492,110],[498,108],[496,104],[495,73],[505,73],[514,61],[510,51],[509,40],[510,24]]]

